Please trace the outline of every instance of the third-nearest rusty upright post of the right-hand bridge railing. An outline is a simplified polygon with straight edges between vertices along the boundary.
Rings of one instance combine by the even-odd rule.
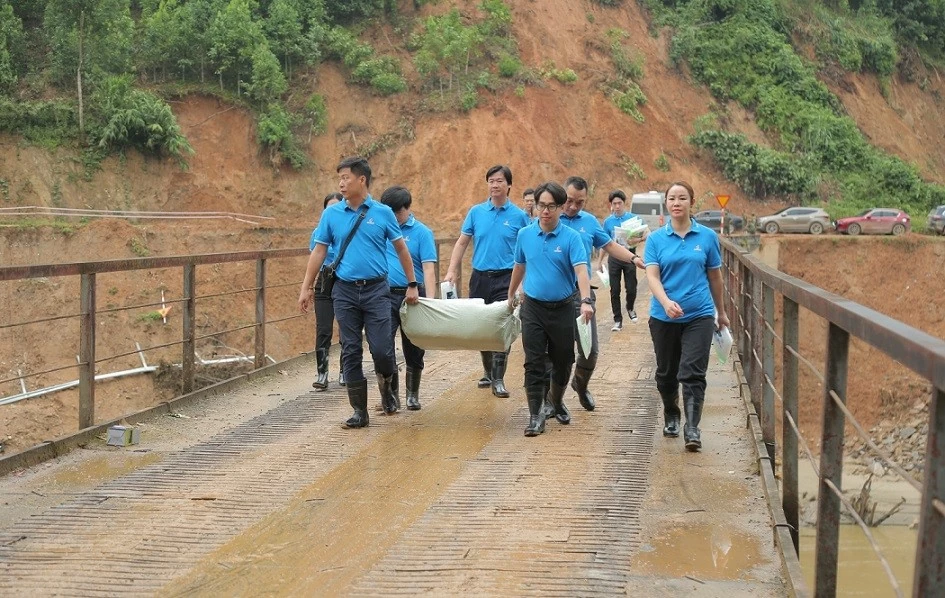
[[[793,299],[781,296],[781,337],[783,345],[781,346],[781,398],[784,400],[784,412],[789,413],[791,418],[797,422],[797,373],[798,362],[787,347],[793,347],[799,351],[798,347],[798,307]],[[782,477],[782,500],[784,508],[784,517],[791,525],[791,539],[794,540],[794,551],[800,551],[798,537],[798,439],[794,435],[794,430],[787,424],[787,418],[784,418],[781,425],[781,477]]]

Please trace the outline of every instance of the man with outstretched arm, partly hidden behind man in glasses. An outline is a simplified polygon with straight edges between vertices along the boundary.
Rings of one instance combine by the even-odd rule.
[[[587,249],[587,275],[591,273],[591,252],[592,247],[604,251],[608,255],[625,262],[631,262],[638,268],[643,268],[643,260],[632,253],[626,247],[619,245],[610,238],[604,228],[597,221],[593,214],[584,211],[587,205],[587,181],[579,176],[568,177],[564,183],[565,192],[568,194],[568,200],[564,204],[564,213],[561,214],[561,222],[569,226],[581,235],[584,247]],[[596,301],[597,296],[591,289],[591,299]],[[575,302],[575,310],[580,312],[581,305]],[[571,388],[577,392],[578,400],[581,406],[588,411],[593,411],[596,403],[594,396],[587,390],[587,385],[591,381],[591,375],[594,368],[597,367],[597,355],[599,345],[597,341],[597,317],[591,320],[591,350],[585,355],[581,349],[578,353],[577,364],[574,367],[574,379],[571,381]]]

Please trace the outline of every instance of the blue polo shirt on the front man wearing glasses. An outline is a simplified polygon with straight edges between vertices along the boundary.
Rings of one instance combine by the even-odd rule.
[[[546,233],[541,225],[530,224],[519,231],[515,243],[515,263],[525,265],[525,295],[539,301],[561,301],[574,294],[574,268],[587,263],[581,236],[558,222]]]

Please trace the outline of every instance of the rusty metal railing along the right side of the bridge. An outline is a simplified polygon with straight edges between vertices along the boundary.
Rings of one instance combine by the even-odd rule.
[[[889,468],[921,492],[919,537],[913,574],[913,596],[945,596],[945,341],[885,316],[858,303],[834,295],[764,265],[730,240],[723,240],[726,310],[731,314],[733,335],[742,369],[748,379],[751,401],[761,424],[767,452],[763,467],[774,466],[778,446],[776,417],[783,420],[780,458],[780,504],[775,513],[775,540],[784,552],[799,546],[798,459],[807,458],[819,479],[817,494],[817,546],[815,549],[816,596],[834,596],[837,590],[840,507],[843,505],[862,528],[885,569],[896,595],[902,590],[869,527],[841,492],[844,428],[847,424],[869,450]],[[781,313],[775,313],[775,299]],[[823,373],[800,351],[800,310],[826,320],[827,351]],[[781,331],[775,329],[780,319]],[[847,407],[847,372],[852,338],[874,347],[932,386],[924,481],[919,482],[881,450]],[[776,346],[777,342],[777,346]],[[782,356],[780,390],[776,385],[776,348]],[[800,365],[813,372],[823,385],[823,419],[820,459],[798,426],[798,375]],[[780,413],[776,412],[777,409]],[[777,493],[775,486],[769,492]],[[786,522],[778,524],[779,520]],[[787,529],[785,529],[785,527]]]

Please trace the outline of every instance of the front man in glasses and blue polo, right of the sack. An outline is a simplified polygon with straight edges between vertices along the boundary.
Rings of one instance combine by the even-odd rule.
[[[509,309],[524,279],[522,348],[525,351],[525,396],[528,398],[528,427],[525,436],[545,431],[547,399],[552,413],[562,424],[571,422],[564,405],[564,390],[574,363],[574,297],[578,295],[581,316],[590,321],[591,285],[587,274],[587,251],[580,235],[564,226],[558,209],[567,201],[561,185],[548,182],[535,189],[538,223],[523,228],[515,245],[515,267],[509,284]],[[578,291],[575,291],[575,288]],[[551,385],[546,390],[551,363]]]

